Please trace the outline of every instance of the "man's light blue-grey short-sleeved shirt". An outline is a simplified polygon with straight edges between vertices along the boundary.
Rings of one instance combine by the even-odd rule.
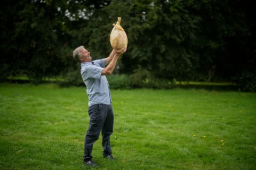
[[[111,95],[106,75],[101,75],[105,68],[105,59],[81,63],[81,75],[86,86],[89,106],[111,104]]]

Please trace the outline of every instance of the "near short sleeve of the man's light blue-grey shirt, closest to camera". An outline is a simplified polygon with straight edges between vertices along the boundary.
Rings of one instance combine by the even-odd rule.
[[[95,66],[95,65],[86,65],[81,70],[83,80],[86,80],[89,78],[99,79],[101,77],[102,70],[103,70],[103,68]]]

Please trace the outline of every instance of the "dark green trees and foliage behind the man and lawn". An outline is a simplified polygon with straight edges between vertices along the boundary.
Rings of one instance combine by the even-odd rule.
[[[121,16],[129,45],[116,73],[127,75],[133,87],[143,86],[143,80],[175,79],[234,81],[244,90],[255,90],[253,1],[5,0],[4,4],[2,81],[26,75],[35,83],[54,77],[81,83],[73,50],[84,45],[93,59],[108,56],[111,24]]]

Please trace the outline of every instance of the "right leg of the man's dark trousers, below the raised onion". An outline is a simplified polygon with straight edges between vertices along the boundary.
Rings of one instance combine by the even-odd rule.
[[[103,156],[111,155],[112,150],[110,146],[110,135],[113,133],[114,126],[114,113],[111,105],[107,105],[107,115],[105,123],[103,124],[101,134],[102,134],[102,147],[103,147]]]

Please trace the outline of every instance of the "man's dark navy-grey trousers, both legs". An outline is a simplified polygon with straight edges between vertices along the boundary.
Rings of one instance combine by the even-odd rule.
[[[95,141],[102,135],[103,156],[111,155],[110,135],[113,133],[114,113],[111,105],[95,104],[89,107],[89,128],[85,135],[84,156],[86,162],[92,159],[92,148]]]

